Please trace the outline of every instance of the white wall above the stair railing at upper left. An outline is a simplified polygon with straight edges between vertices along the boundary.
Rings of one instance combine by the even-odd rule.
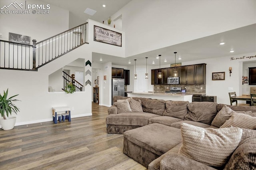
[[[0,6],[9,5],[13,0],[0,1]],[[19,1],[22,2],[24,1]],[[44,4],[41,0],[26,0],[26,4]],[[10,7],[11,9],[11,7]],[[15,9],[15,8],[14,8]],[[68,10],[50,5],[49,14],[0,14],[1,40],[9,40],[9,32],[30,36],[37,42],[68,30]],[[81,23],[82,24],[82,23]]]

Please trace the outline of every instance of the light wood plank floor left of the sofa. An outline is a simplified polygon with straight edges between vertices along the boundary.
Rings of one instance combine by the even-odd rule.
[[[123,154],[122,134],[106,133],[107,109],[92,103],[92,116],[71,122],[0,129],[0,170],[145,170]]]

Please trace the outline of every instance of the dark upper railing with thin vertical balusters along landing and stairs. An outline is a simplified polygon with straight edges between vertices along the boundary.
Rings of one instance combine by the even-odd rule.
[[[88,23],[52,36],[33,45],[0,40],[0,69],[37,71],[38,68],[84,45]],[[80,88],[80,86],[78,86]]]

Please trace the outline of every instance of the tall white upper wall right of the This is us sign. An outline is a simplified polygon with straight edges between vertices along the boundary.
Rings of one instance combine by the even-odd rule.
[[[128,57],[254,24],[255,6],[252,0],[132,0],[112,18],[122,14]]]

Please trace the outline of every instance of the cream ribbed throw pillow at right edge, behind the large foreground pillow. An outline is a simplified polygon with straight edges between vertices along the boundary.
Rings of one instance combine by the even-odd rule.
[[[252,117],[243,113],[232,113],[230,119],[228,119],[220,128],[239,127],[252,129],[255,126],[256,117]]]

